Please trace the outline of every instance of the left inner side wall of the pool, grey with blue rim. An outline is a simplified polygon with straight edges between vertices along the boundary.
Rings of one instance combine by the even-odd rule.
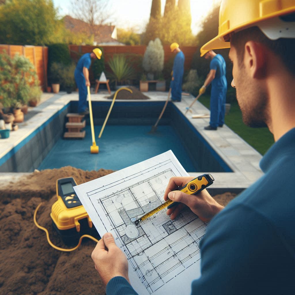
[[[55,143],[63,136],[65,115],[71,104],[65,105],[50,119],[0,159],[0,172],[32,172],[44,160]]]

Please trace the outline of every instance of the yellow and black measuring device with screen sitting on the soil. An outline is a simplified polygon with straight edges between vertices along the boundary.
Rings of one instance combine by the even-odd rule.
[[[75,245],[82,235],[91,235],[100,239],[92,221],[76,195],[73,186],[77,183],[73,177],[56,181],[57,201],[51,207],[50,217],[55,230],[66,245]]]

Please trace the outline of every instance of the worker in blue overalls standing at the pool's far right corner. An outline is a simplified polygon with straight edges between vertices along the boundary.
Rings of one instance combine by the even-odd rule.
[[[179,45],[175,42],[170,45],[170,49],[171,52],[176,53],[172,69],[172,79],[170,83],[171,100],[181,101],[184,54],[179,49]]]

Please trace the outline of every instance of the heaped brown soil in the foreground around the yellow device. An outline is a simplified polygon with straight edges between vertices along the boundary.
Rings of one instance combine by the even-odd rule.
[[[21,178],[17,186],[10,183],[1,188],[0,294],[105,294],[91,259],[95,243],[84,239],[73,252],[55,250],[48,245],[45,232],[35,226],[33,214],[42,202],[38,223],[48,229],[53,244],[68,248],[53,230],[50,219],[51,206],[56,201],[56,179],[73,176],[80,184],[109,173],[112,171],[83,171],[68,166],[34,172]],[[225,193],[215,199],[226,205],[234,197]]]

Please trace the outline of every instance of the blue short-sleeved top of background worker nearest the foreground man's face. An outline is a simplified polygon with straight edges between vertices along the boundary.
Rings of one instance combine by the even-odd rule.
[[[215,89],[223,89],[224,87],[227,88],[227,81],[226,81],[226,64],[225,60],[222,55],[217,54],[212,58],[210,62],[210,70],[215,70],[215,78],[212,80],[212,88]]]

